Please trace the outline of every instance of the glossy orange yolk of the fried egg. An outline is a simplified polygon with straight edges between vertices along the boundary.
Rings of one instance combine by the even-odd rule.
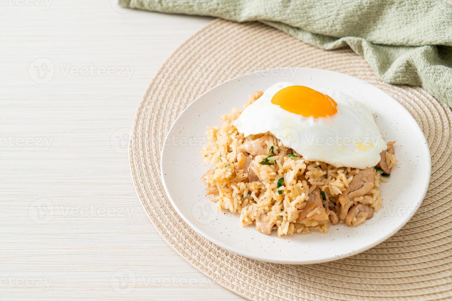
[[[328,95],[305,86],[289,86],[279,90],[272,103],[286,111],[305,117],[326,117],[337,113],[337,103]]]

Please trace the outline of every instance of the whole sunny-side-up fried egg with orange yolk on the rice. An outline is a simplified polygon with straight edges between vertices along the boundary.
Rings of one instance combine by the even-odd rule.
[[[377,165],[386,149],[366,102],[338,91],[276,83],[234,121],[245,137],[271,133],[309,161],[335,167]]]

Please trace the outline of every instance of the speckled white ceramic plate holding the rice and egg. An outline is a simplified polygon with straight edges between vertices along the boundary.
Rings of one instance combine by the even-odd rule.
[[[294,234],[279,238],[240,227],[239,217],[209,201],[201,176],[210,168],[200,155],[207,125],[221,125],[220,116],[242,109],[248,95],[288,81],[314,89],[331,88],[366,100],[387,141],[396,140],[399,160],[389,183],[382,183],[383,206],[358,227],[338,224],[328,234]],[[196,99],[174,122],[161,157],[165,190],[184,220],[209,241],[249,258],[285,264],[313,264],[367,250],[397,232],[419,208],[430,179],[430,153],[419,125],[408,111],[380,89],[352,76],[323,69],[282,68],[247,74],[212,88]]]

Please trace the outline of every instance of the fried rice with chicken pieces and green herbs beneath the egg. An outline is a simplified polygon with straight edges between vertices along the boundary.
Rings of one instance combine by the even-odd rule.
[[[245,107],[259,96],[259,93],[250,96]],[[254,224],[259,232],[270,234],[276,230],[278,236],[327,233],[331,223],[358,226],[380,210],[380,183],[388,181],[388,175],[381,168],[359,170],[307,161],[293,149],[282,145],[271,133],[244,137],[233,125],[240,113],[232,109],[230,114],[221,116],[220,127],[207,127],[208,143],[201,154],[213,165],[202,176],[207,194],[212,196],[211,200],[217,203],[219,210],[239,215],[242,227]],[[249,159],[245,159],[250,161],[250,165],[249,170],[245,170],[240,162],[243,157],[240,149],[247,141],[258,139],[268,153],[248,154]],[[389,147],[392,143],[388,143]],[[384,152],[381,160],[390,170],[397,162],[393,149]],[[373,173],[372,189],[347,199],[349,204],[345,208],[341,197],[346,197],[353,177],[358,177],[363,171]],[[250,173],[255,175],[256,181],[250,181]]]

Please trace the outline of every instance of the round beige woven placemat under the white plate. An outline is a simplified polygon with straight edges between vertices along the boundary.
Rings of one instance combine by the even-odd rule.
[[[372,83],[410,111],[427,137],[432,155],[427,195],[405,227],[371,250],[313,265],[247,259],[194,232],[165,194],[160,150],[182,110],[227,79],[284,66],[330,69]],[[131,138],[132,177],[146,213],[165,241],[202,273],[247,299],[447,299],[452,296],[451,123],[448,107],[420,88],[383,83],[350,49],[324,51],[260,23],[217,19],[180,46],[147,89]],[[416,156],[415,149],[410,152]]]

